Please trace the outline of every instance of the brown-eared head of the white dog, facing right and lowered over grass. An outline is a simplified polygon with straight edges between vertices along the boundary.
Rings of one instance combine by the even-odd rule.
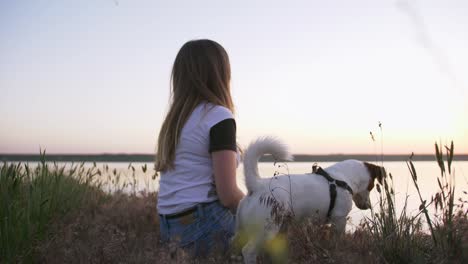
[[[353,195],[353,201],[359,209],[366,210],[371,208],[371,202],[369,198],[370,191],[374,188],[375,179],[382,184],[383,178],[386,177],[387,172],[384,167],[377,166],[371,163],[364,162],[364,166],[367,169],[369,175],[367,180],[367,188],[361,192],[356,192]]]

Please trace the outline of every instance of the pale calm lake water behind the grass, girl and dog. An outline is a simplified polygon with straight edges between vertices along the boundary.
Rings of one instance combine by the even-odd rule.
[[[152,179],[153,164],[152,163],[105,163],[109,166],[108,173],[110,175],[101,176],[103,180],[102,188],[106,191],[112,192],[116,186],[120,186],[125,192],[140,192],[140,191],[156,191],[158,189],[159,178]],[[106,166],[104,163],[96,164],[101,170]],[[334,164],[334,162],[322,162],[318,165],[326,168]],[[148,170],[143,173],[142,167],[147,166]],[[274,165],[271,162],[259,163],[259,171],[262,177],[271,177],[277,171],[282,174],[307,173],[311,171],[313,162],[289,162],[286,166],[282,163]],[[407,212],[415,214],[418,212],[419,205],[421,204],[416,188],[411,180],[411,174],[408,170],[406,162],[384,162],[384,167],[387,173],[393,176],[393,185],[395,190],[396,207],[401,211],[404,206],[405,199],[408,196]],[[92,166],[92,163],[86,163],[86,166]],[[440,169],[435,161],[417,161],[414,166],[418,175],[418,185],[423,196],[427,202],[431,201],[431,196],[438,190],[437,177],[440,175]],[[133,167],[133,169],[132,169]],[[116,176],[113,176],[114,170]],[[456,183],[456,199],[463,198],[468,200],[468,195],[463,191],[468,192],[468,161],[454,161],[452,164],[452,173],[455,175]],[[242,164],[237,169],[238,184],[241,190],[246,191],[243,179]],[[118,178],[119,183],[116,184]],[[375,208],[378,207],[378,193],[374,189],[371,193],[371,201]],[[433,206],[429,207],[430,212],[434,212]],[[370,216],[370,210],[362,211],[356,207],[350,213],[349,224],[352,228],[353,225],[359,224],[361,219]]]

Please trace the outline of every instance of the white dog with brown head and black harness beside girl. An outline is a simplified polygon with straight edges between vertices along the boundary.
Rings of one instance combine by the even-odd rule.
[[[245,151],[248,194],[239,203],[236,219],[236,236],[247,234],[247,243],[242,248],[245,263],[256,262],[258,251],[278,234],[284,217],[329,221],[338,234],[344,233],[352,201],[360,209],[369,209],[374,180],[381,182],[385,176],[382,167],[346,160],[315,173],[262,179],[257,163],[264,154],[271,154],[275,160],[292,158],[287,147],[273,138],[260,138]]]

